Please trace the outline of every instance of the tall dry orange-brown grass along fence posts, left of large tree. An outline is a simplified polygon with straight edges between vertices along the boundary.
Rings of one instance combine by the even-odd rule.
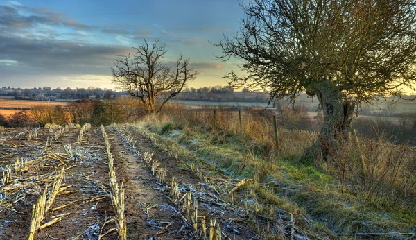
[[[311,146],[317,133],[284,128],[281,119],[286,117],[281,114],[277,114],[279,126],[279,146],[277,146],[273,115],[276,114],[272,110],[243,108],[240,125],[239,112],[230,108],[207,106],[187,110],[184,106],[168,105],[159,120],[162,121],[160,124],[171,122],[171,128],[209,134],[214,143],[223,144],[231,139],[241,145],[243,150],[268,160],[273,160],[277,155],[300,155]],[[296,115],[291,114],[291,117],[293,116]],[[297,124],[304,125],[303,121],[297,121]]]

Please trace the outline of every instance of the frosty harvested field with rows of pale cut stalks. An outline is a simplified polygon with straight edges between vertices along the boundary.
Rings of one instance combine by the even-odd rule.
[[[261,239],[266,229],[329,239],[304,216],[252,212],[239,194],[250,180],[161,149],[133,126],[2,128],[0,154],[0,239]]]

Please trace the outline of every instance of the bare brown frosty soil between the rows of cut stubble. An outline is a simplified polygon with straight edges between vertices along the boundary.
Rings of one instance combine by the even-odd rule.
[[[108,159],[100,128],[85,132],[80,145],[77,140],[80,128],[69,129],[58,140],[54,139],[55,131],[39,128],[37,136],[29,139],[34,129],[0,128],[0,171],[6,173],[6,166],[11,166],[12,172],[12,180],[0,185],[0,239],[28,238],[33,205],[46,183],[51,191],[55,173],[62,166],[67,169],[60,186],[62,191],[40,225],[63,215],[58,223],[35,232],[35,239],[99,239],[100,235],[104,240],[118,239],[117,231],[112,230],[116,224],[109,221],[115,214],[109,197]],[[171,156],[143,135],[134,136],[137,151],[133,151],[120,129],[107,127],[107,134],[116,177],[119,186],[125,189],[127,239],[203,239],[202,232],[193,230],[192,223],[186,220],[189,218],[183,205],[170,196],[173,177],[180,186],[181,197],[192,191],[192,199],[198,200],[198,228],[205,216],[208,233],[209,219],[216,218],[224,232],[223,239],[258,239],[242,210],[221,200],[223,192],[210,186],[207,179],[202,180],[184,168],[180,156]],[[51,139],[52,144],[46,146]],[[71,146],[72,156],[64,146]],[[144,162],[146,152],[155,153],[153,160],[165,169],[162,183]],[[30,164],[15,173],[17,157]],[[62,208],[53,210],[57,207]]]

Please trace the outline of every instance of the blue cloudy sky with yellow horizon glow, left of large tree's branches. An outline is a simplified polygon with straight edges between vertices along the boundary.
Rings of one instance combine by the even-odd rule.
[[[113,89],[114,59],[144,39],[166,46],[166,61],[191,58],[189,87],[226,85],[238,62],[216,60],[210,42],[238,31],[239,2],[0,0],[0,87]]]

